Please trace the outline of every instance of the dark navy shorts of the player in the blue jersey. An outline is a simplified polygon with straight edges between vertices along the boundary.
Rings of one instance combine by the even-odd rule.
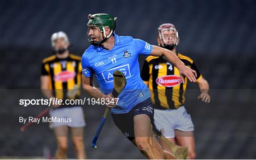
[[[130,140],[134,140],[134,122],[133,117],[136,115],[146,114],[149,116],[151,124],[154,125],[154,107],[151,98],[138,103],[133,107],[128,113],[124,114],[113,114],[114,123],[119,128],[119,130]]]

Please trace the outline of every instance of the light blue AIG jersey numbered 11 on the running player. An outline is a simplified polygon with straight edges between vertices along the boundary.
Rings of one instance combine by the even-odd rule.
[[[152,45],[131,36],[115,36],[115,45],[111,50],[91,45],[82,55],[82,73],[85,77],[95,74],[104,94],[113,89],[113,72],[122,71],[127,85],[119,95],[112,113],[128,113],[138,103],[150,98],[150,92],[140,78],[138,55],[149,55]]]

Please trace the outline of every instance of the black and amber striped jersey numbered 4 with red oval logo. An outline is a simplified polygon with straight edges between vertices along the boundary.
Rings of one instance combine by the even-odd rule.
[[[180,53],[177,56],[186,66],[197,72],[197,80],[201,79],[201,73],[191,58]],[[182,83],[179,70],[167,62],[163,56],[146,58],[141,79],[148,83],[156,109],[175,109],[184,105],[188,79],[185,77],[185,83]]]

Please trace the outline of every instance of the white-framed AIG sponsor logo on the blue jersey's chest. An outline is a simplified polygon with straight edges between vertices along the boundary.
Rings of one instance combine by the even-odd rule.
[[[131,76],[131,71],[130,71],[129,64],[122,65],[122,66],[115,67],[115,68],[112,68],[108,71],[104,71],[104,72],[101,73],[101,75],[102,75],[102,77],[103,77],[103,79],[105,80],[106,83],[114,81],[113,72],[116,71],[116,70],[119,70],[119,71],[123,72],[126,78]]]

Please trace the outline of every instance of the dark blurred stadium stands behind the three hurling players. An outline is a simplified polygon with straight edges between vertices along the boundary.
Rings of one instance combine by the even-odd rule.
[[[109,13],[116,33],[156,44],[157,27],[179,30],[178,52],[190,56],[210,84],[211,103],[197,100],[189,85],[186,108],[195,125],[197,159],[256,159],[256,1],[255,0],[0,0],[0,158],[53,156],[56,143],[46,124],[19,131],[18,116],[35,116],[43,107],[21,107],[18,99],[36,91],[40,67],[53,52],[50,36],[64,31],[71,53],[89,46],[89,13]],[[140,65],[144,56],[140,57]],[[91,138],[104,112],[84,106],[89,159],[145,159],[109,117],[99,138]],[[68,157],[75,158],[69,143]]]

